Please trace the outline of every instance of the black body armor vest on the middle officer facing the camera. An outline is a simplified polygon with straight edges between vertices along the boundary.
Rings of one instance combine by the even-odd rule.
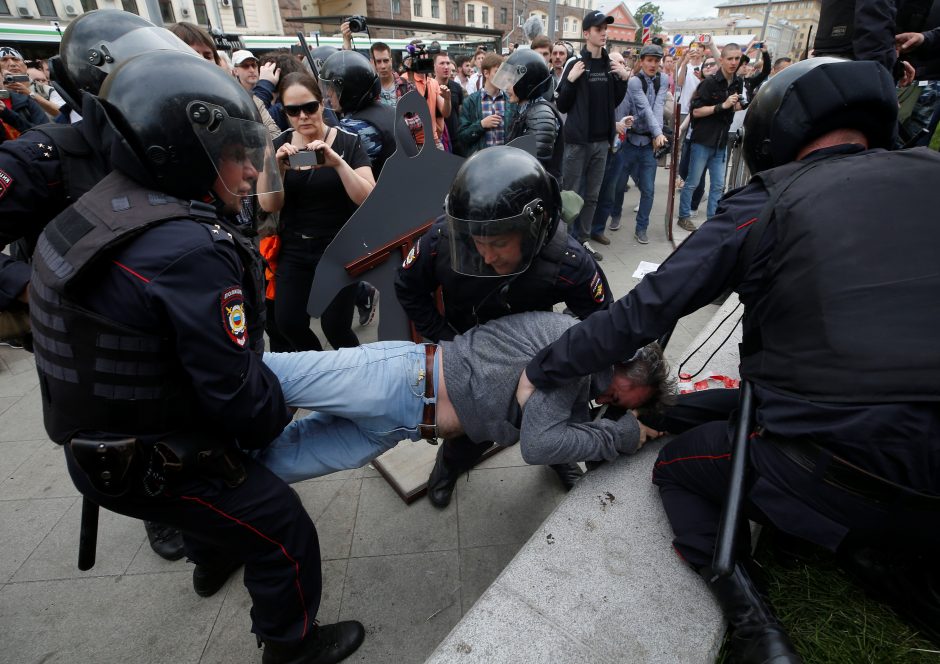
[[[514,277],[468,277],[454,272],[446,224],[440,226],[440,234],[434,268],[444,292],[444,317],[459,333],[508,314],[551,311],[559,301],[556,284],[562,264],[578,264],[578,258],[567,251],[568,228],[560,221],[529,268]]]

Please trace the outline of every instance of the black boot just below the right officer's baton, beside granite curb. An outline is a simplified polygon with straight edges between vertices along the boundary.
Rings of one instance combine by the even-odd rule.
[[[747,570],[737,563],[730,576],[699,571],[721,606],[730,632],[730,659],[737,664],[798,664],[790,638]]]

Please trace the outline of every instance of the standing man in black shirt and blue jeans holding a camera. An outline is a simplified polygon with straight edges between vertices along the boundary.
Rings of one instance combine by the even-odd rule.
[[[689,161],[689,177],[679,196],[680,227],[694,230],[692,224],[692,194],[708,171],[708,215],[711,218],[718,209],[725,183],[725,161],[728,129],[734,120],[734,111],[740,111],[743,81],[736,76],[741,61],[741,47],[726,44],[721,49],[719,70],[705,77],[699,84],[691,102],[692,145]]]

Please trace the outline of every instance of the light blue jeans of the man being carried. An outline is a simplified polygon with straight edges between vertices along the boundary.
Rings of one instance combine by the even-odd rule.
[[[425,344],[380,341],[336,351],[265,353],[291,422],[255,458],[285,482],[359,468],[406,438],[420,440]],[[436,369],[435,369],[436,372]],[[438,385],[437,376],[434,385]]]

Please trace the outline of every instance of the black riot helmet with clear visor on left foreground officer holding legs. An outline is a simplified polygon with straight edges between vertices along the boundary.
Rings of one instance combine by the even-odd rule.
[[[213,196],[230,209],[236,205],[227,198],[281,189],[257,107],[238,81],[207,60],[143,53],[118,65],[98,99],[120,136],[112,165],[145,187],[181,199]]]

